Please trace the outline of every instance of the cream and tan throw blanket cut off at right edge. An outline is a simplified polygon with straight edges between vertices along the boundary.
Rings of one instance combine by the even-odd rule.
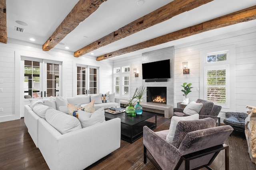
[[[252,162],[256,163],[256,107],[247,106],[250,110],[245,119],[245,135],[248,145],[248,153]]]

